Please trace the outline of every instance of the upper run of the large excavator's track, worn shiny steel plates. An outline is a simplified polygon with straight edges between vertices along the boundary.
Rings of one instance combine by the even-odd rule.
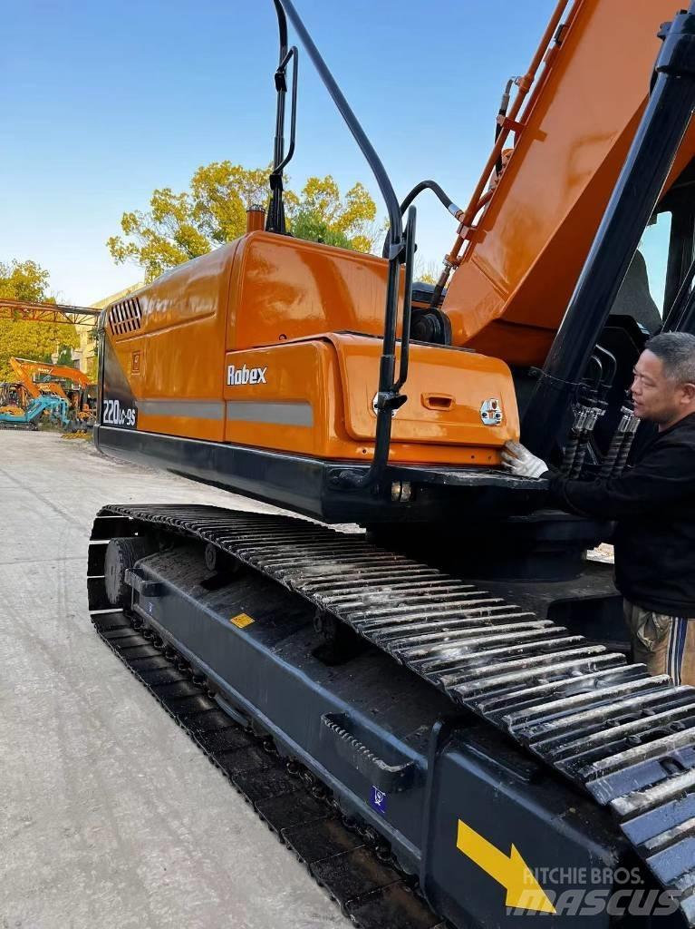
[[[129,520],[121,534],[160,531],[216,546],[502,730],[611,809],[695,926],[695,688],[652,677],[622,654],[360,534],[197,505],[109,505],[95,526],[99,517]],[[93,539],[103,545],[103,531]],[[89,581],[90,606],[100,584],[97,576]],[[114,642],[127,630],[112,640],[99,628],[108,615],[93,619],[122,657]],[[420,924],[434,923],[413,923]]]

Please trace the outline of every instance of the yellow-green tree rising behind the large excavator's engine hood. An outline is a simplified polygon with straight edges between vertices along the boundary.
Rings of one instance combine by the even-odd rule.
[[[135,261],[152,281],[167,268],[210,252],[243,235],[246,210],[266,204],[270,168],[212,162],[196,171],[189,190],[155,190],[148,212],[124,213],[122,236],[107,242],[117,264]],[[368,252],[376,241],[377,207],[362,184],[341,198],[330,177],[310,177],[297,194],[285,190],[285,212],[293,235],[313,242]]]

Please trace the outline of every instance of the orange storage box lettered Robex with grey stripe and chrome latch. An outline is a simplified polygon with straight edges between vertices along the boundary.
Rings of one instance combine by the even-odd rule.
[[[379,339],[318,339],[228,352],[225,440],[321,459],[369,461]],[[393,418],[391,461],[499,464],[519,435],[507,365],[468,351],[411,347],[407,401]]]

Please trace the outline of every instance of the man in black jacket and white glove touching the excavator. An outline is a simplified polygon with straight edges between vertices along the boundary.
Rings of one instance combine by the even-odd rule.
[[[561,509],[617,520],[615,583],[633,661],[695,685],[695,335],[651,338],[631,390],[635,414],[657,430],[620,477],[562,478],[519,442],[502,458],[514,475],[550,478]]]

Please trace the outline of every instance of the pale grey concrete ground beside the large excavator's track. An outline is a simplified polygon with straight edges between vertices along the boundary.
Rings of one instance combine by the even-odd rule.
[[[0,432],[0,929],[346,925],[92,631],[92,519],[129,502],[269,509]]]

